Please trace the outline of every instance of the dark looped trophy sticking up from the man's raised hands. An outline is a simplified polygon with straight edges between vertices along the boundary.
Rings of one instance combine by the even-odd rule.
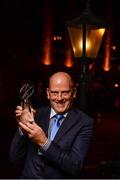
[[[33,92],[34,85],[32,84],[26,83],[21,87],[19,95],[23,109],[28,109],[29,111],[31,111],[31,102],[29,98],[32,96]]]

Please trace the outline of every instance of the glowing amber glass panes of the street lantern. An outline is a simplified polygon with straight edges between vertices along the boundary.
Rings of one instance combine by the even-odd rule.
[[[92,25],[86,25],[85,29],[83,27],[82,24],[74,27],[68,26],[74,56],[78,58],[85,55],[88,58],[96,58],[105,28]],[[83,34],[85,34],[85,40],[83,39]],[[83,54],[83,46],[85,47],[85,54]]]

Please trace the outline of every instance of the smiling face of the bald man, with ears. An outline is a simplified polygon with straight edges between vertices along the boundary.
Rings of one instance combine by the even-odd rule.
[[[75,96],[76,92],[68,78],[54,78],[50,81],[50,87],[47,89],[47,97],[56,113],[67,112]]]

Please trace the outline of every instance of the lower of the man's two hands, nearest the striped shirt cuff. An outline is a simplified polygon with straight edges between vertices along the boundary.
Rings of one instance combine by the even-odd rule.
[[[44,131],[35,123],[35,121],[33,121],[32,123],[28,121],[26,124],[20,121],[19,126],[27,133],[28,137],[37,145],[42,146],[47,141],[47,137]]]

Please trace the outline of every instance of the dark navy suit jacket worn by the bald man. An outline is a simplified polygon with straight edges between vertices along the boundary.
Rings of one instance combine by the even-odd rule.
[[[50,108],[36,113],[36,123],[48,134]],[[38,146],[17,131],[10,148],[10,159],[26,154],[22,178],[80,178],[90,145],[93,119],[77,108],[71,108],[47,151],[38,155]]]

